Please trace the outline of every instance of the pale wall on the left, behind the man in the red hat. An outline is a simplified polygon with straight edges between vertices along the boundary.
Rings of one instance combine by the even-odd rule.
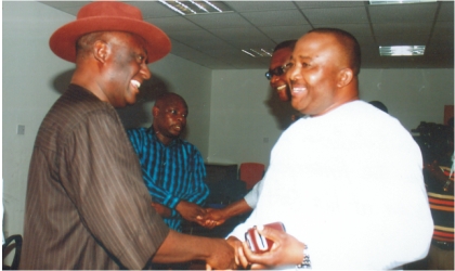
[[[35,1],[2,2],[2,178],[5,235],[23,233],[28,166],[38,128],[66,89],[74,64],[49,49],[52,33],[75,16]],[[128,126],[151,125],[158,92],[181,94],[190,107],[185,139],[208,153],[211,70],[169,54],[150,65],[153,79],[141,88],[138,105],[119,109]],[[25,125],[25,134],[16,134]]]

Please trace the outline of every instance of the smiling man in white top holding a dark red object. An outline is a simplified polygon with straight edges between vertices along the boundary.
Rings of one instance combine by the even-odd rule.
[[[231,234],[255,227],[272,250],[236,250],[244,267],[393,269],[424,258],[433,231],[420,151],[389,114],[359,101],[360,46],[340,29],[301,37],[286,73],[292,107],[306,115],[271,153],[251,216]],[[245,256],[245,257],[243,257]]]

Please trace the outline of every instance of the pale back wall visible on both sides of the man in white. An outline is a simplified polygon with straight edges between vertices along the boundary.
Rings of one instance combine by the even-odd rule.
[[[264,72],[213,70],[208,160],[269,165],[282,130]],[[454,69],[362,69],[360,92],[385,103],[411,131],[420,121],[443,122],[444,105],[454,104]]]

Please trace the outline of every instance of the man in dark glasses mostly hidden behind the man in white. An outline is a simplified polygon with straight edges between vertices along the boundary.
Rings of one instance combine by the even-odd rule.
[[[270,86],[278,93],[280,100],[283,102],[290,101],[289,87],[285,81],[285,72],[296,41],[286,40],[275,47],[270,61],[269,72],[265,73],[265,77],[270,80]],[[295,117],[295,115],[292,116]],[[208,208],[204,225],[213,228],[224,223],[232,217],[251,211],[256,207],[261,189],[262,184],[259,181],[244,198],[221,209]]]

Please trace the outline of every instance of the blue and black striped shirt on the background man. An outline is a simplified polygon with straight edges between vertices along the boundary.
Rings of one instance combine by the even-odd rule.
[[[176,206],[180,201],[203,205],[209,195],[203,156],[196,146],[181,139],[162,144],[152,127],[130,129],[127,133],[139,156],[148,193],[154,202],[171,209],[171,217],[164,220],[181,232],[183,218]]]

